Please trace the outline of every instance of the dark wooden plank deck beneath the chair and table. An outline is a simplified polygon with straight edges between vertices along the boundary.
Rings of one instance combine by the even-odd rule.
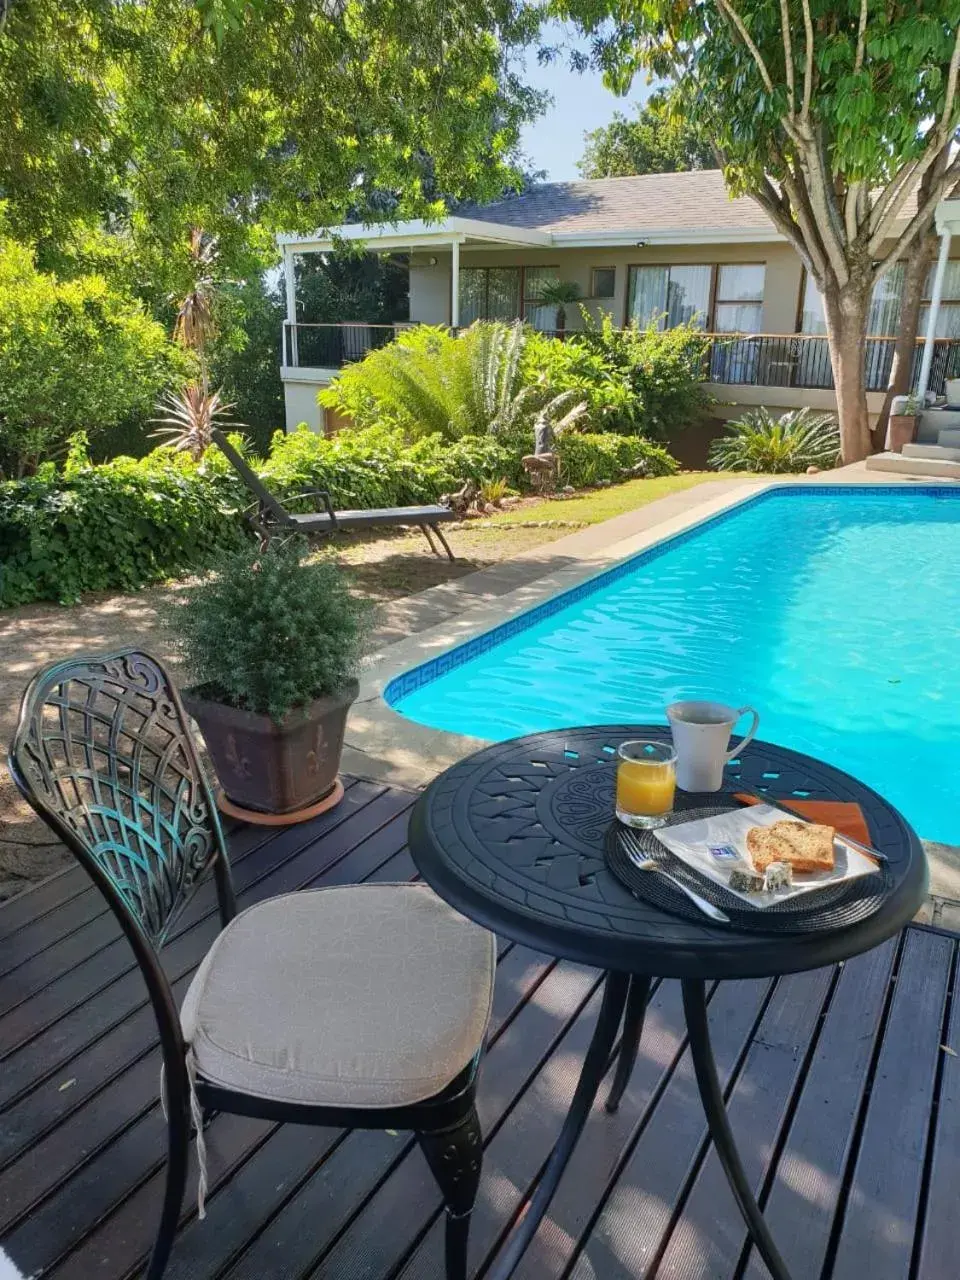
[[[233,832],[241,906],[308,884],[415,876],[408,792],[351,782],[279,833]],[[165,948],[182,996],[215,934],[201,891]],[[714,988],[731,1121],[795,1280],[960,1274],[957,940],[910,928],[844,968]],[[474,1216],[481,1275],[561,1124],[598,974],[500,946]],[[127,1280],[164,1169],[159,1052],[140,974],[83,876],[0,908],[0,1277]],[[408,1134],[218,1116],[205,1222],[191,1199],[169,1280],[440,1280],[439,1198]],[[617,1116],[600,1107],[524,1280],[763,1280],[705,1144],[680,992],[654,992]]]

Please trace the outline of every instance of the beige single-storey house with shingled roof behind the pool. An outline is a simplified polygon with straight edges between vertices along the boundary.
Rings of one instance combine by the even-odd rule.
[[[721,172],[708,169],[543,183],[460,209],[436,224],[347,225],[314,237],[279,237],[288,428],[301,421],[330,426],[316,404],[319,388],[344,362],[394,335],[389,325],[298,320],[294,257],[328,252],[337,239],[407,256],[410,323],[457,328],[481,317],[521,317],[556,329],[556,308],[539,303],[539,291],[545,280],[572,280],[594,317],[607,314],[621,325],[689,320],[722,335],[710,351],[707,388],[721,416],[750,404],[836,407],[813,280],[759,205],[731,200]],[[867,355],[872,413],[887,385],[901,276],[895,266],[873,300]],[[567,329],[580,324],[580,308],[568,307]],[[922,315],[922,333],[924,328]],[[960,259],[948,262],[936,334],[931,389],[941,392],[946,376],[960,374]]]

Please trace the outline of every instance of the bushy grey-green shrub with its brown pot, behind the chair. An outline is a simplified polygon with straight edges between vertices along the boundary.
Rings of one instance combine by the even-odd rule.
[[[244,549],[183,593],[168,621],[228,812],[298,820],[334,804],[370,609],[329,558],[292,539]],[[261,818],[261,820],[265,820]]]

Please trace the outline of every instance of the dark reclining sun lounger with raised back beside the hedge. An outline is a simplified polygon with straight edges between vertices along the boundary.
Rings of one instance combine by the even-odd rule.
[[[422,531],[434,556],[443,554],[434,543],[434,538],[436,538],[443,550],[447,552],[448,559],[453,561],[456,558],[449,543],[443,536],[443,530],[439,527],[444,521],[457,518],[449,507],[375,507],[371,511],[334,511],[330,494],[325,489],[311,489],[297,494],[294,500],[310,498],[316,511],[307,515],[298,515],[297,512],[287,511],[280,499],[270,493],[243,454],[238,449],[234,449],[223,431],[214,428],[210,435],[218,448],[227,454],[233,470],[256,498],[255,508],[251,509],[247,520],[257,534],[261,547],[265,547],[278,534],[329,535],[358,529],[379,529],[389,525],[415,525]]]

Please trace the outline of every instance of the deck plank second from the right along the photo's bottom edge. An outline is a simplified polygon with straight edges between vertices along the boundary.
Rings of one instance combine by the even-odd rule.
[[[952,960],[951,938],[908,932],[833,1280],[906,1280],[910,1274]]]

